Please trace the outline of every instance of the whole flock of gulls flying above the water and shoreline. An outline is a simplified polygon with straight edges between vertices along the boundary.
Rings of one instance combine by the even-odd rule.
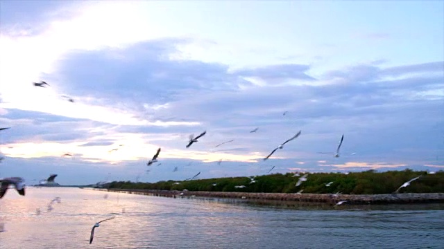
[[[49,86],[49,84],[46,83],[46,82],[44,82],[44,81],[41,81],[41,82],[33,82],[33,85],[34,85],[34,86],[37,86],[37,87],[43,87],[43,88],[46,87],[46,86]],[[62,97],[63,97],[63,98],[66,98],[69,102],[74,102],[74,99],[73,99],[73,98],[70,98],[70,97],[67,96],[67,95],[62,95]],[[282,115],[285,116],[287,113],[288,113],[288,111],[285,111]],[[5,129],[10,129],[10,127],[0,128],[0,131],[1,131],[1,130],[5,130]],[[250,131],[250,133],[256,133],[256,132],[258,131],[258,129],[259,129],[259,127],[253,129],[252,131]],[[193,145],[195,142],[198,142],[198,139],[199,139],[199,138],[202,138],[203,136],[205,136],[206,133],[207,133],[207,131],[203,131],[202,133],[200,133],[200,134],[199,134],[198,136],[196,136],[196,137],[194,137],[194,134],[191,134],[191,135],[189,136],[189,142],[187,143],[187,145],[186,145],[185,147],[186,147],[186,148],[191,147],[191,145]],[[300,136],[301,133],[302,133],[302,131],[298,131],[298,133],[296,133],[294,136],[292,136],[292,137],[289,138],[288,140],[282,142],[282,144],[278,145],[278,147],[276,147],[275,149],[273,149],[273,150],[270,152],[270,154],[268,154],[266,157],[264,157],[263,160],[264,160],[264,161],[265,161],[265,160],[268,160],[268,158],[270,158],[270,157],[271,157],[276,151],[278,151],[278,149],[283,149],[283,148],[284,148],[284,145],[286,145],[288,142],[291,142],[292,140],[298,138],[298,137]],[[344,135],[342,135],[342,137],[341,137],[341,141],[339,142],[339,145],[338,145],[338,147],[336,148],[336,152],[334,153],[334,157],[336,157],[336,158],[339,158],[339,155],[340,155],[340,154],[339,154],[339,151],[340,151],[340,149],[341,149],[341,145],[342,145],[342,143],[343,143],[343,140],[344,140]],[[224,145],[224,144],[226,144],[226,143],[228,143],[228,142],[233,142],[233,141],[234,141],[234,140],[228,140],[228,141],[226,141],[226,142],[222,142],[221,144],[216,145],[216,147],[219,147],[219,146],[221,146],[221,145]],[[119,145],[119,146],[123,146],[123,145]],[[111,152],[111,151],[117,151],[117,149],[119,149],[119,148],[112,149],[112,150],[110,150],[110,152]],[[153,158],[151,158],[150,160],[148,160],[148,163],[146,163],[147,166],[151,166],[151,165],[153,165],[153,163],[157,163],[157,162],[158,162],[157,158],[159,157],[160,151],[161,151],[161,148],[158,148],[157,151],[156,151],[156,153],[154,154]],[[318,153],[320,153],[320,154],[330,154],[330,153],[324,153],[324,152],[318,152]],[[352,154],[355,154],[355,153],[352,153]],[[67,154],[63,154],[62,156],[72,156],[72,154],[67,153]],[[3,160],[3,159],[4,159],[4,157],[0,157],[0,162],[1,162],[1,160]],[[221,164],[221,161],[222,161],[222,160],[219,160],[219,162],[218,162],[219,165]],[[160,165],[160,164],[159,164],[159,165]],[[275,168],[275,166],[273,166],[270,170],[268,170],[268,173],[271,172],[271,170],[274,169],[274,168]],[[177,170],[178,170],[178,167],[175,167],[174,170],[173,170],[173,172],[176,172]],[[185,179],[185,181],[193,180],[193,179],[195,179],[195,178],[196,178],[197,176],[199,176],[199,175],[200,175],[200,172],[198,172],[198,173],[197,173],[196,175],[194,175],[193,177],[190,177],[190,178]],[[296,176],[300,176],[300,175],[299,175],[298,173],[295,173],[295,174],[294,174],[294,177],[296,177]],[[297,181],[297,183],[296,183],[296,186],[300,186],[302,183],[304,183],[305,181],[307,181],[307,177],[308,177],[308,174],[305,174],[305,175],[303,175],[303,176],[300,176],[300,177],[298,178],[298,181]],[[417,176],[417,177],[415,177],[415,178],[413,178],[413,179],[407,181],[406,183],[404,183],[403,185],[401,185],[401,186],[398,188],[398,190],[395,190],[395,193],[398,193],[399,190],[400,190],[402,187],[407,187],[407,186],[409,186],[410,183],[411,183],[412,181],[416,181],[418,178],[420,178],[420,176]],[[250,184],[253,184],[253,183],[255,183],[256,181],[257,181],[257,180],[255,180],[254,177],[251,177],[251,178],[250,178]],[[21,178],[21,177],[2,178],[2,179],[0,179],[0,182],[1,182],[0,199],[3,198],[3,196],[6,194],[6,192],[7,192],[7,190],[8,190],[8,187],[9,187],[10,185],[12,185],[12,186],[15,188],[15,190],[17,190],[17,192],[19,193],[19,195],[21,195],[21,196],[24,196],[24,195],[25,195],[25,181],[24,181],[24,178]],[[326,183],[325,186],[329,187],[332,183],[333,183],[333,182]],[[180,184],[180,183],[173,183],[173,184]],[[213,185],[216,185],[216,184],[217,184],[217,183],[213,183]],[[244,187],[246,187],[246,186],[245,186],[245,185],[238,185],[238,186],[234,186],[234,187],[236,187],[236,188],[244,188]],[[296,194],[301,194],[302,191],[303,191],[303,190],[300,190],[300,191],[299,191],[298,193],[296,193]],[[183,193],[182,193],[182,194],[183,194]],[[340,193],[336,193],[336,196],[337,196],[338,194],[340,194]],[[55,202],[60,203],[60,197],[56,197],[56,199],[51,200],[51,202],[50,202],[49,205],[48,205],[48,210],[49,210],[49,211],[52,210],[52,204],[55,203]],[[338,203],[336,203],[336,205],[342,205],[343,203],[346,203],[346,202],[347,202],[347,201],[339,201]],[[38,209],[37,209],[37,214],[40,214],[40,212],[41,212],[41,210],[40,210],[40,208],[38,208]],[[104,222],[104,221],[108,221],[108,220],[110,220],[110,219],[114,219],[114,218],[115,218],[115,217],[111,217],[111,218],[104,219],[103,221],[99,221],[99,222],[95,223],[94,226],[92,227],[92,230],[91,230],[91,236],[90,236],[90,238],[89,238],[89,243],[92,243],[92,241],[93,241],[93,239],[94,239],[94,230],[95,230],[95,228],[98,228],[100,223],[102,223],[102,222]]]

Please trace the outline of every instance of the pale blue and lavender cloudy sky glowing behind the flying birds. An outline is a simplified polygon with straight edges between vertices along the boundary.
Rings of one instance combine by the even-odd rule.
[[[444,2],[2,0],[0,127],[28,185],[443,170]]]

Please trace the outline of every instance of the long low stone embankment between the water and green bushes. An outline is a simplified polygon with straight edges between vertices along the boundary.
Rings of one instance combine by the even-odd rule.
[[[126,192],[164,197],[205,197],[223,199],[247,199],[255,201],[298,201],[304,203],[329,203],[348,201],[348,204],[394,204],[394,203],[444,203],[444,193],[428,194],[284,194],[248,192],[205,192],[177,190],[120,190],[94,189],[109,192]]]

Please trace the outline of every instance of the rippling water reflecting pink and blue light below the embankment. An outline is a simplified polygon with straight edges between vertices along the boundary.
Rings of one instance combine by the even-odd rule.
[[[442,204],[290,209],[63,187],[28,187],[26,191],[24,197],[8,190],[0,200],[0,223],[4,223],[0,248],[443,248],[444,245]],[[106,199],[105,194],[108,194]],[[61,203],[53,203],[53,210],[48,211],[47,205],[56,196]],[[41,208],[41,214],[36,213],[36,208]],[[111,216],[116,218],[101,223],[89,244],[94,223]]]

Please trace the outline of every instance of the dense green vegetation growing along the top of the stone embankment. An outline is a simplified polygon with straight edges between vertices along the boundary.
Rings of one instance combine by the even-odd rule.
[[[300,174],[302,176],[302,174]],[[299,176],[292,173],[271,174],[257,176],[257,182],[250,184],[248,177],[212,178],[194,181],[160,181],[157,183],[112,182],[110,189],[129,190],[184,190],[189,191],[218,191],[218,192],[266,192],[266,193],[304,193],[328,194],[341,192],[342,194],[391,194],[403,183],[422,175],[418,180],[412,181],[403,187],[400,193],[439,193],[444,192],[444,172],[427,174],[427,172],[414,172],[411,169],[404,171],[356,172],[350,174],[340,173],[314,173],[309,174],[307,181],[296,187]],[[330,187],[325,184],[333,182]],[[217,183],[213,186],[213,183]],[[236,185],[245,185],[245,188],[236,188]]]

